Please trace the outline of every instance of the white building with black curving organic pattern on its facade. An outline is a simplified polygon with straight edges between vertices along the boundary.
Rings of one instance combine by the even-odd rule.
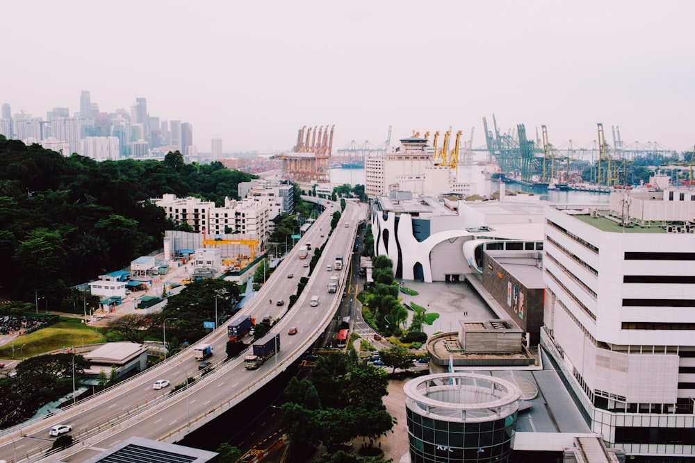
[[[485,242],[541,241],[543,211],[539,201],[468,203],[392,191],[372,204],[375,254],[391,259],[396,278],[461,280]]]

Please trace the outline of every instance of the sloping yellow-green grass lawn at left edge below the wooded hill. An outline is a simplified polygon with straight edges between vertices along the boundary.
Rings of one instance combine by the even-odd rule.
[[[85,346],[106,342],[106,338],[100,332],[86,326],[81,319],[60,317],[58,323],[15,339],[15,360],[24,360],[72,346],[81,347],[83,340]],[[12,358],[11,342],[0,348],[0,358]]]

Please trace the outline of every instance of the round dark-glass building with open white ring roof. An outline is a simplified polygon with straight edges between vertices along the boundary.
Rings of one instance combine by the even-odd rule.
[[[521,391],[475,373],[420,376],[403,387],[412,463],[511,461]]]

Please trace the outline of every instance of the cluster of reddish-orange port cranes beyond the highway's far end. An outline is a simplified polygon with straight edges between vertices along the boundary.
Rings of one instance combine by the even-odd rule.
[[[331,152],[333,131],[328,126],[300,128],[297,144],[289,153],[280,156],[282,178],[295,182],[329,183],[331,181]]]

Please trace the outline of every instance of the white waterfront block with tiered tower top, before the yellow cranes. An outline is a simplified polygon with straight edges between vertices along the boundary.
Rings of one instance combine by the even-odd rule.
[[[394,190],[429,196],[475,194],[475,183],[458,182],[454,174],[454,169],[434,164],[434,147],[425,138],[405,138],[385,155],[366,158],[365,193],[370,198]]]

